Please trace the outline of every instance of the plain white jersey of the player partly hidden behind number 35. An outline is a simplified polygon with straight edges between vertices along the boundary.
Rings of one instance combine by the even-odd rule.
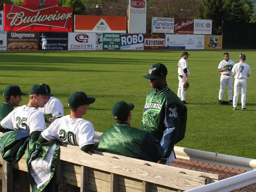
[[[51,96],[49,101],[45,104],[44,107],[38,107],[38,110],[43,114],[48,115],[47,118],[50,117],[62,117],[64,116],[64,109],[62,102],[59,99]]]

